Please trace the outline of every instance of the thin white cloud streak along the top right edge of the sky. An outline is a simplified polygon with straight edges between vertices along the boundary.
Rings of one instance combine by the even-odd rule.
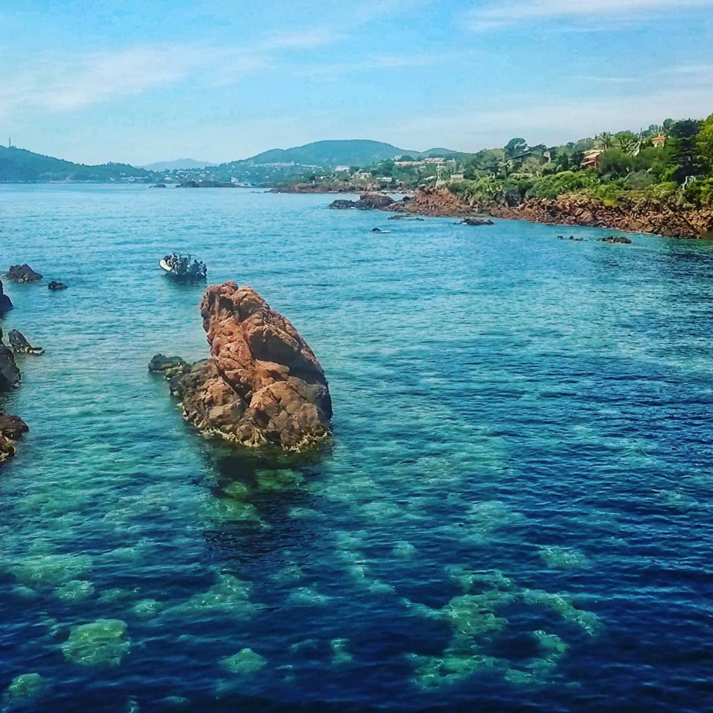
[[[523,22],[570,21],[573,26],[594,21],[633,21],[679,13],[683,9],[712,7],[713,0],[495,0],[468,11],[471,29],[486,30]]]

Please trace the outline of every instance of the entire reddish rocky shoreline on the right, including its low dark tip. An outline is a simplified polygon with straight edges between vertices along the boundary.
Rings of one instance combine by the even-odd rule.
[[[527,200],[519,205],[503,205],[498,202],[471,205],[446,188],[426,188],[402,200],[393,200],[381,194],[364,194],[359,200],[335,200],[330,207],[386,210],[404,215],[459,217],[468,225],[476,225],[483,217],[492,216],[552,225],[603,227],[664,237],[713,237],[713,208],[693,210],[663,200],[622,199],[617,205],[606,205],[586,195],[570,194],[555,200]]]

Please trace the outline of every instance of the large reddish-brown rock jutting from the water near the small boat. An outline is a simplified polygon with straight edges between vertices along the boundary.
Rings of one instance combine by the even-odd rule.
[[[209,287],[200,304],[210,359],[174,376],[183,417],[242,446],[299,450],[331,433],[322,366],[282,314],[250,287]],[[155,366],[163,363],[156,359]]]

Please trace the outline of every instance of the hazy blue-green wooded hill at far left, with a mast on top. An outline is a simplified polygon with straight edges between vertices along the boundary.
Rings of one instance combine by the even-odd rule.
[[[150,172],[134,168],[127,163],[103,163],[84,165],[61,158],[43,156],[24,148],[0,146],[0,182],[14,181],[109,181],[134,178],[150,178]]]

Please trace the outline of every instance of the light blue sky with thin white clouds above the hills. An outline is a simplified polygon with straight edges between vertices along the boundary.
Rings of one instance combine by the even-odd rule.
[[[215,163],[713,113],[713,0],[0,0],[0,143]]]

